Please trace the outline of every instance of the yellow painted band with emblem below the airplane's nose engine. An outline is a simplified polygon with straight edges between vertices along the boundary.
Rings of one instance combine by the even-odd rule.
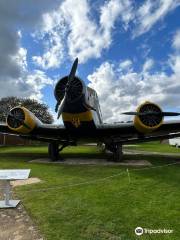
[[[78,128],[81,122],[89,122],[93,120],[92,112],[86,111],[82,113],[62,113],[62,119],[64,122],[71,122],[76,128]]]

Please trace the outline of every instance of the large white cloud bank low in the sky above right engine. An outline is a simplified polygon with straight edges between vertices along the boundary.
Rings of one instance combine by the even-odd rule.
[[[121,72],[120,65],[118,68],[105,62],[88,76],[89,86],[98,93],[106,122],[132,119],[121,113],[134,111],[146,100],[166,108],[177,107],[180,102],[180,56],[171,56],[169,59],[173,71],[170,76],[165,72],[150,73],[153,62],[147,59],[140,72],[128,68]]]

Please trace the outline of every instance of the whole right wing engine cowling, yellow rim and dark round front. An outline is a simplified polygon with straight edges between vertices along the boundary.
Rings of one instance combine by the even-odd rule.
[[[151,114],[155,112],[157,114]],[[140,133],[151,133],[158,129],[163,123],[163,115],[161,108],[151,102],[145,102],[137,108],[137,113],[144,115],[136,115],[134,117],[134,126]],[[146,114],[146,115],[145,115]]]

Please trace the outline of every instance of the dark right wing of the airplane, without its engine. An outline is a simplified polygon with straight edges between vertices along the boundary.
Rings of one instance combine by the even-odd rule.
[[[128,144],[148,142],[180,137],[180,121],[163,123],[156,131],[148,134],[139,133],[134,123],[99,125],[97,135],[104,141]]]

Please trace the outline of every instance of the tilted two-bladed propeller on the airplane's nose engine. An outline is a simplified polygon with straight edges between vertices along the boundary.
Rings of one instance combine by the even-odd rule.
[[[70,71],[70,74],[68,76],[68,81],[66,83],[66,88],[65,88],[65,93],[64,93],[64,97],[60,103],[60,105],[56,106],[56,108],[58,108],[58,116],[57,116],[57,119],[59,119],[59,117],[61,116],[61,113],[63,112],[63,109],[64,109],[64,105],[65,105],[65,102],[66,102],[66,98],[67,98],[67,93],[68,93],[68,90],[69,88],[71,87],[71,83],[76,75],[76,70],[77,70],[77,67],[78,67],[78,58],[75,59],[73,65],[72,65],[72,68],[71,68],[71,71]]]

